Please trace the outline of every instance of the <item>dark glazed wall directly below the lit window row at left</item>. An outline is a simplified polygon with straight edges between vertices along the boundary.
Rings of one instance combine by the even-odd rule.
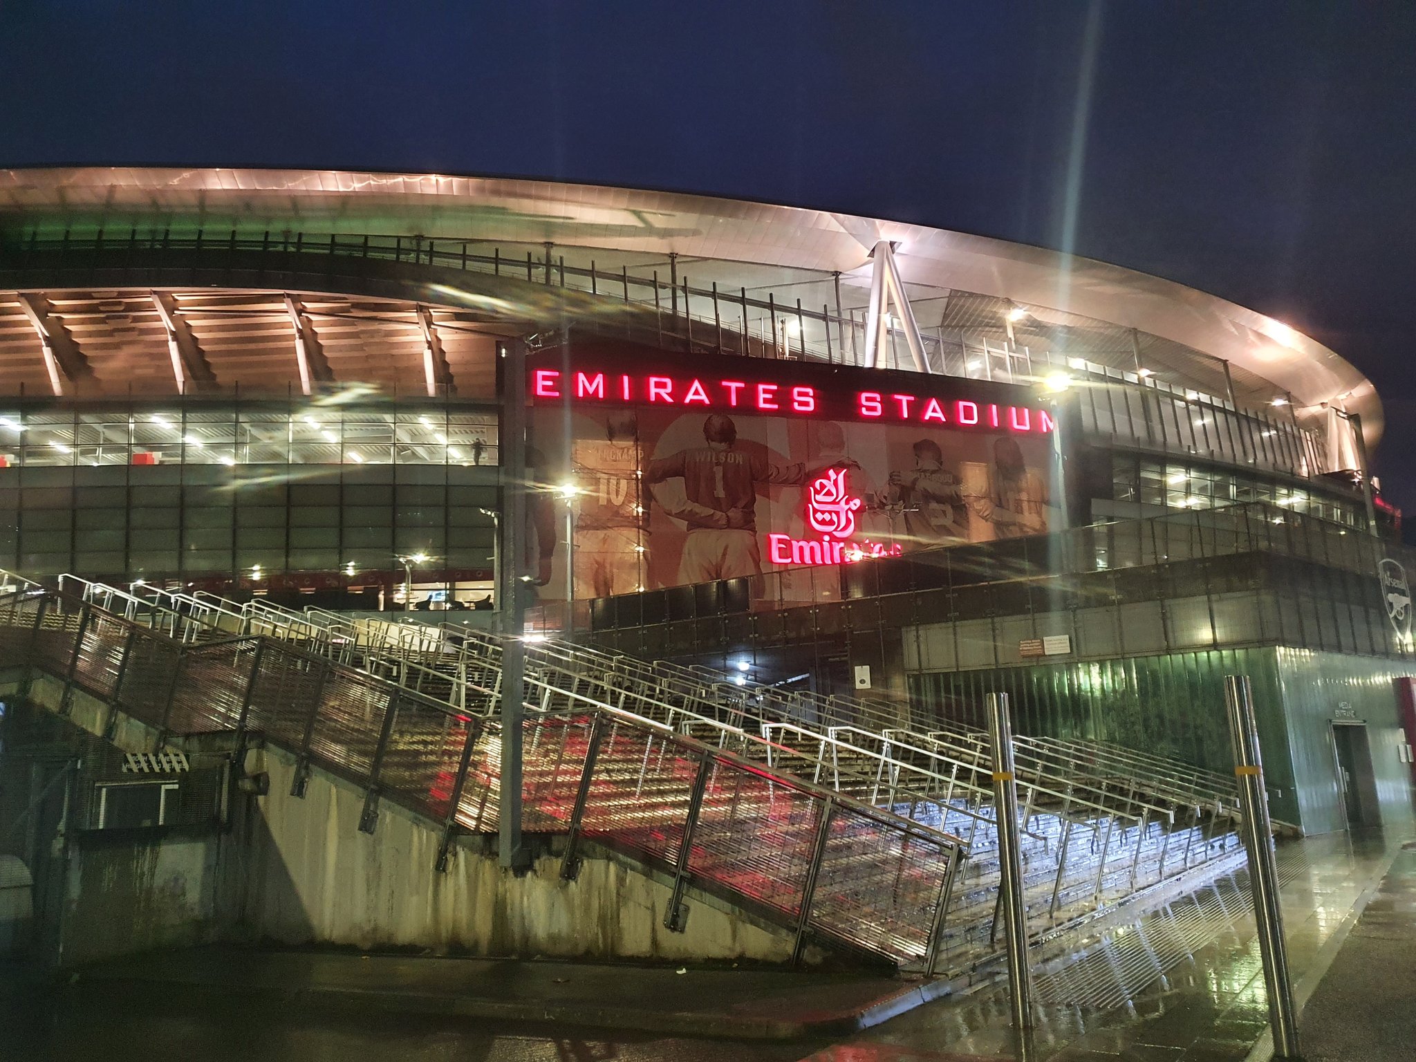
[[[425,552],[490,572],[496,498],[494,469],[459,464],[0,469],[0,568],[130,582],[387,572]]]

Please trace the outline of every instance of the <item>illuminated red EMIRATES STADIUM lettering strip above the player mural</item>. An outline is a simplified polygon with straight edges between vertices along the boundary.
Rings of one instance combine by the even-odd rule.
[[[970,398],[936,398],[905,391],[854,391],[844,395],[813,384],[725,379],[716,375],[671,377],[600,371],[531,370],[532,402],[565,401],[615,405],[663,405],[683,409],[756,411],[773,416],[840,416],[862,421],[937,423],[986,432],[1054,430],[1049,411]]]

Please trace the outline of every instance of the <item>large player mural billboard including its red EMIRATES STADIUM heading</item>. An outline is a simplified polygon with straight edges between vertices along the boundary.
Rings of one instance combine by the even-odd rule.
[[[796,382],[800,370],[780,384],[589,371],[568,384],[535,372],[532,430],[538,449],[566,456],[561,538],[571,542],[555,551],[542,598],[752,578],[1056,525],[1052,422],[1037,401],[852,395]]]

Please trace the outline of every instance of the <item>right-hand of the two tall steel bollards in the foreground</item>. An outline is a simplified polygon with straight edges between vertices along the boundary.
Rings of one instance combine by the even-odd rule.
[[[1279,874],[1273,865],[1273,824],[1263,789],[1259,759],[1259,729],[1253,719],[1253,690],[1247,675],[1225,675],[1225,708],[1229,739],[1235,749],[1235,780],[1243,813],[1243,843],[1249,852],[1249,889],[1253,916],[1259,923],[1259,952],[1263,983],[1269,994],[1269,1024],[1273,1027],[1274,1058],[1298,1058],[1298,1029],[1289,980],[1289,952],[1283,940],[1283,912],[1279,910]]]

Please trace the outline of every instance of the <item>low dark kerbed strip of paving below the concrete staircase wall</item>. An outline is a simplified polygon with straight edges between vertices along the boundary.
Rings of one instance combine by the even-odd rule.
[[[927,988],[861,974],[200,947],[85,969],[71,991],[119,986],[779,1041],[848,1035],[919,1005]]]

